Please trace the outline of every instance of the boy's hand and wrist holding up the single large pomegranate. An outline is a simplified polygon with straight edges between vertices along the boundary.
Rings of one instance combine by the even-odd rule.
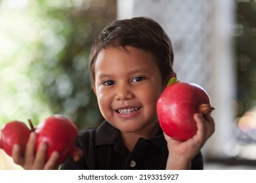
[[[194,114],[198,131],[187,141],[176,141],[165,133],[165,140],[169,149],[166,169],[190,169],[192,159],[200,152],[203,144],[213,135],[215,122],[210,114]]]

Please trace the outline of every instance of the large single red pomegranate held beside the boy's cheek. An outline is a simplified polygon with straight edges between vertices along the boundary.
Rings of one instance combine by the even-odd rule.
[[[209,95],[197,84],[179,82],[171,78],[157,101],[160,126],[169,137],[186,141],[196,134],[194,114],[207,114],[211,107]]]

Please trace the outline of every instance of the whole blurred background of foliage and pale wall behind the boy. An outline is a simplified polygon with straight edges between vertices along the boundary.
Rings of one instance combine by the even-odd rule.
[[[96,35],[113,20],[149,16],[165,29],[179,80],[216,109],[205,169],[256,169],[255,0],[0,0],[0,127],[63,114],[79,129],[102,117],[89,80]],[[0,169],[21,169],[0,150]]]

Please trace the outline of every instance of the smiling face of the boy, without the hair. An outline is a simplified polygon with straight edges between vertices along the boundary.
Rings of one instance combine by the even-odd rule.
[[[156,101],[165,86],[152,54],[127,50],[110,47],[98,54],[93,89],[110,124],[122,132],[147,133],[156,125]]]

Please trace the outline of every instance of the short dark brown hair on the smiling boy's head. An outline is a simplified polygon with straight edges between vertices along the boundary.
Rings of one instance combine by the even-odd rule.
[[[163,28],[154,20],[137,17],[116,20],[96,38],[89,57],[91,84],[95,86],[95,61],[98,53],[108,47],[132,46],[150,52],[160,69],[163,82],[173,75],[173,47]]]

